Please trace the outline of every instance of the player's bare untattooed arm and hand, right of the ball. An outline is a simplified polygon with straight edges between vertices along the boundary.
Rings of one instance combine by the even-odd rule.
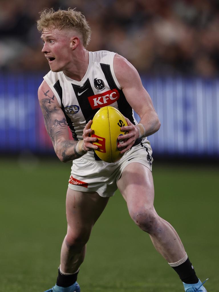
[[[150,95],[142,85],[137,70],[130,62],[118,54],[114,56],[113,66],[126,100],[140,117],[139,123],[145,128],[145,136],[157,132],[160,128],[160,121],[154,110]],[[139,137],[138,127],[133,126],[130,121],[128,121],[128,125],[128,127],[121,128],[122,131],[129,131],[128,136],[126,136],[129,140],[123,144],[123,146],[127,147],[121,153],[130,149]],[[124,138],[124,136],[120,136],[119,140]]]

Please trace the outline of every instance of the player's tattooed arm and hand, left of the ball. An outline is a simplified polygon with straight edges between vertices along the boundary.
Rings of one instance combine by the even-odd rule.
[[[65,115],[58,104],[55,95],[50,87],[43,81],[38,90],[39,104],[44,116],[44,122],[48,135],[51,138],[53,147],[58,158],[63,161],[71,161],[81,157],[76,151],[78,141],[69,140],[68,126]],[[89,137],[91,121],[84,128],[83,150],[92,150]]]

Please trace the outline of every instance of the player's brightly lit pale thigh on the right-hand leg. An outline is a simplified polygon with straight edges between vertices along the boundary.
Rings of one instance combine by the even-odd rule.
[[[117,186],[131,209],[154,209],[154,183],[150,169],[143,164],[133,162],[122,172]]]

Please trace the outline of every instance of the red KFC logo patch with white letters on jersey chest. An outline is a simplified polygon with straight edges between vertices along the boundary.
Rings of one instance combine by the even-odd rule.
[[[119,91],[116,88],[88,97],[92,109],[97,109],[100,107],[111,105],[118,99]]]

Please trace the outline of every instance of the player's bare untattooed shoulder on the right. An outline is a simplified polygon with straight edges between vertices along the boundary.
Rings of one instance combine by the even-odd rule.
[[[136,86],[141,84],[138,71],[126,58],[122,57],[121,55],[116,54],[114,56],[113,68],[122,89],[124,87],[130,86],[131,84],[136,84]]]

